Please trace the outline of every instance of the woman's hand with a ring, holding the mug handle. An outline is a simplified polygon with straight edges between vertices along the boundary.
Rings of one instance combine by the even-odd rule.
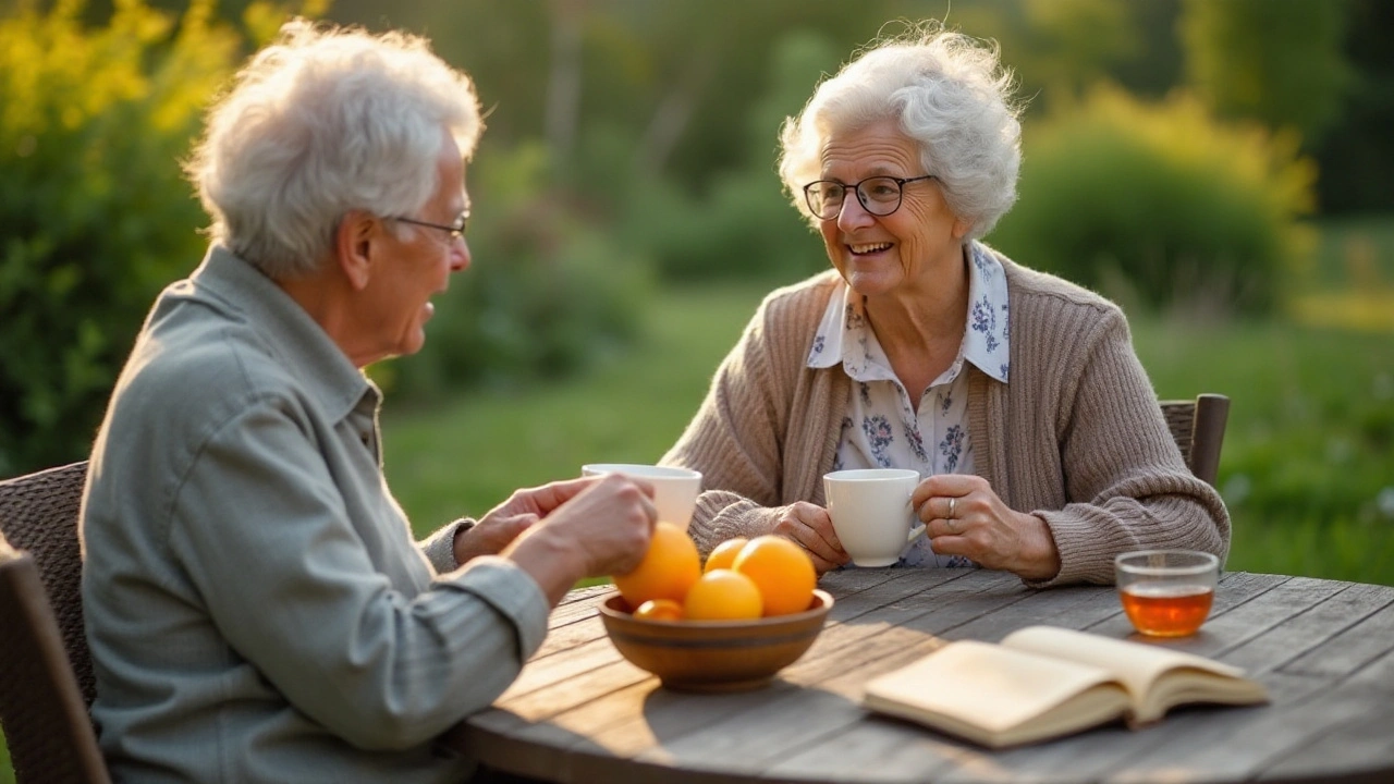
[[[910,502],[940,555],[963,555],[1029,580],[1059,572],[1059,551],[1046,520],[1009,509],[983,477],[934,474],[914,488]]]

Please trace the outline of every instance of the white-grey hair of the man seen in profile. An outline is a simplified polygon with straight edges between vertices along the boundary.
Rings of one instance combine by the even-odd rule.
[[[284,279],[315,271],[348,211],[418,211],[443,131],[468,158],[482,128],[470,77],[424,38],[294,20],[209,110],[184,170],[212,239]]]

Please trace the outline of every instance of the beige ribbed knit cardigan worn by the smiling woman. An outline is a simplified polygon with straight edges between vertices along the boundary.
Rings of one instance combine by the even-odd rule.
[[[1122,310],[997,258],[1008,282],[1011,375],[1002,384],[965,364],[967,427],[977,474],[1055,538],[1059,572],[1027,585],[1111,583],[1114,555],[1129,550],[1182,547],[1224,561],[1224,501],[1186,469]],[[810,368],[807,357],[835,283],[828,271],[765,297],[661,460],[703,473],[690,532],[704,554],[769,533],[778,506],[825,504],[822,474],[850,379],[841,364]]]

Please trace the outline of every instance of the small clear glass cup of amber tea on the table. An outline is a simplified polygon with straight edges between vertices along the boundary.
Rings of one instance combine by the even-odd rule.
[[[1158,638],[1193,635],[1210,615],[1220,559],[1196,550],[1142,550],[1114,558],[1124,612],[1135,629]]]

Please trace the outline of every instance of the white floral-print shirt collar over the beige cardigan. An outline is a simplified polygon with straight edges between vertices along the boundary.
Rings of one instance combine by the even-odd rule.
[[[1006,384],[1011,370],[1006,273],[981,243],[969,243],[967,252],[969,310],[959,353],[988,377]],[[867,342],[860,339],[864,329],[860,299],[839,279],[814,332],[807,365],[825,368],[852,363],[864,367]],[[856,375],[850,370],[849,374]]]

